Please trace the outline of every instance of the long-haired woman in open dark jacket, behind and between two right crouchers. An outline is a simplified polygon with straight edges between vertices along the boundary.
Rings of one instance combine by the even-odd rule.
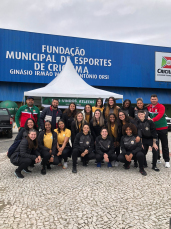
[[[109,136],[113,139],[113,143],[115,147],[114,152],[116,153],[116,156],[118,158],[120,154],[120,144],[118,140],[118,123],[117,123],[116,115],[114,113],[109,114],[107,126],[108,126]],[[117,158],[116,158],[116,161],[112,162],[113,166],[118,166]]]

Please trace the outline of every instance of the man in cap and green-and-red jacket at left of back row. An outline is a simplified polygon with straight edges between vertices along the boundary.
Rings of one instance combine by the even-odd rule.
[[[39,108],[34,105],[34,98],[32,96],[27,97],[26,105],[21,106],[15,115],[18,130],[24,128],[28,118],[32,118],[37,127],[39,127],[40,111]]]

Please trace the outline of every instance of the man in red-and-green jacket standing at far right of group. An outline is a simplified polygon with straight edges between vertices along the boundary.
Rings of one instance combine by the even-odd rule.
[[[170,168],[169,147],[168,147],[168,126],[165,119],[165,107],[158,103],[156,94],[151,95],[151,105],[147,106],[150,119],[156,126],[158,139],[161,140],[163,159],[165,160],[165,167]],[[160,155],[159,155],[160,159]]]

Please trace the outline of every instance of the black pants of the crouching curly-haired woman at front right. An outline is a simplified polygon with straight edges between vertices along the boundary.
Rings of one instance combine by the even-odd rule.
[[[129,154],[130,154],[130,152],[129,152]],[[129,154],[128,154],[128,155],[129,155]],[[136,154],[133,156],[132,160],[134,160],[134,159],[136,159],[136,160],[138,161],[139,168],[142,169],[143,166],[144,166],[144,153],[141,152],[141,151],[139,151],[138,153],[136,153]],[[121,154],[118,156],[118,160],[119,160],[120,162],[122,162],[122,163],[125,163],[126,165],[129,165],[129,164],[130,164],[130,162],[126,160],[125,154],[123,154],[123,153],[121,153]]]

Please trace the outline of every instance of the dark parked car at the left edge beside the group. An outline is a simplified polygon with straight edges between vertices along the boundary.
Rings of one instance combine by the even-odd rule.
[[[12,138],[12,124],[11,117],[7,108],[0,108],[0,133],[7,134],[8,138]]]

